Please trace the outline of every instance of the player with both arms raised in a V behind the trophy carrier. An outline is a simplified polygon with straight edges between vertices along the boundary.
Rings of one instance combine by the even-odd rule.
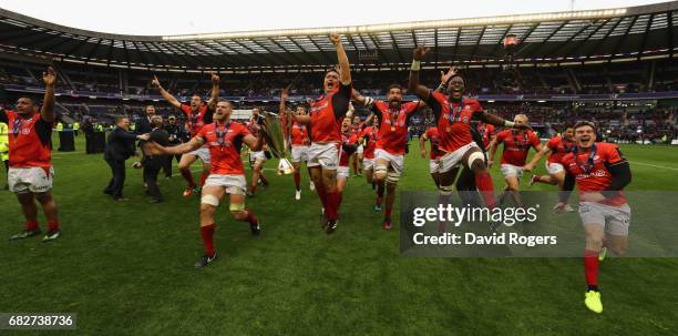
[[[219,99],[219,77],[216,73],[212,73],[212,95],[207,104],[205,104],[205,101],[198,94],[194,94],[191,98],[191,104],[188,105],[179,102],[160,84],[160,81],[155,75],[153,77],[151,86],[158,89],[161,95],[170,104],[179,109],[184,115],[186,115],[191,138],[194,138],[197,133],[199,133],[203,126],[212,123],[212,114],[214,113]],[[184,180],[186,180],[188,183],[188,186],[184,191],[185,197],[198,192],[198,187],[195,185],[195,181],[193,180],[193,174],[191,174],[191,165],[198,159],[203,162],[203,173],[201,174],[202,186],[205,184],[205,179],[207,179],[207,175],[209,175],[209,150],[207,150],[206,146],[196,149],[195,151],[182,155],[178,163],[178,170],[182,172]]]

